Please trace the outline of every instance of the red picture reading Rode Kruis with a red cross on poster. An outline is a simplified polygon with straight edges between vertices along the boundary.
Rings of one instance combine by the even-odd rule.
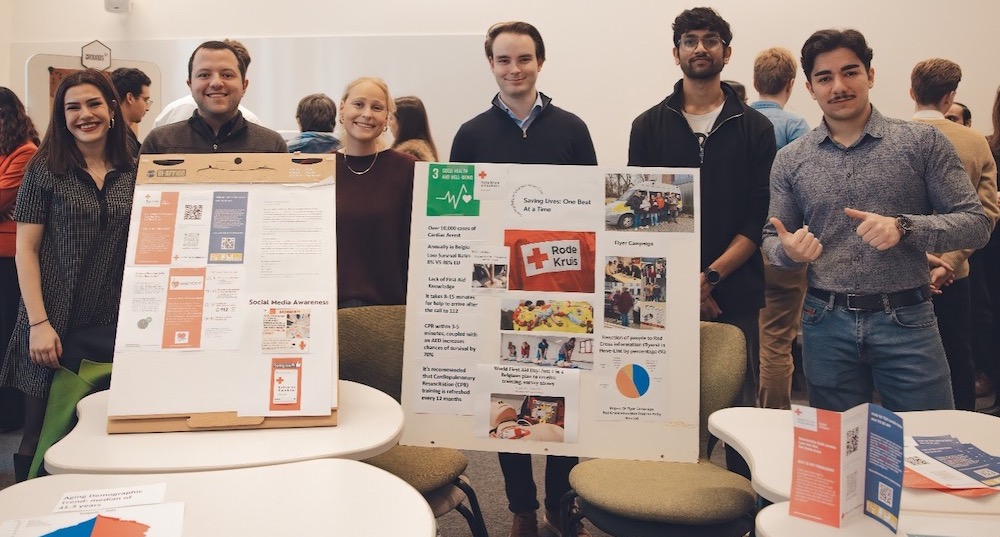
[[[594,292],[596,233],[508,229],[507,288],[521,291]]]

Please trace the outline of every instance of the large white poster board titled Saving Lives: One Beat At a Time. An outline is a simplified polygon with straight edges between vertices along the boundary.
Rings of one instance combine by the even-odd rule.
[[[415,173],[402,443],[695,461],[698,171]]]

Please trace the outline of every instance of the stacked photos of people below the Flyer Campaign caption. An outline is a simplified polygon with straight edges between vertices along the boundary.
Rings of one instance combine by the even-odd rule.
[[[604,268],[605,328],[664,328],[666,289],[666,258],[609,256]]]

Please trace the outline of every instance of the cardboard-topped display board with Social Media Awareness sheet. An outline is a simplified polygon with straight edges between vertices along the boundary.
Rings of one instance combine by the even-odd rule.
[[[142,155],[108,432],[336,424],[333,155]]]

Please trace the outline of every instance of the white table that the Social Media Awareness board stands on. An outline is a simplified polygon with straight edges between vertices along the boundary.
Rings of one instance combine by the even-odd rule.
[[[394,446],[403,410],[375,388],[340,381],[335,427],[108,434],[108,393],[87,396],[80,421],[45,453],[52,474],[134,474],[246,468],[327,457],[367,459]]]

